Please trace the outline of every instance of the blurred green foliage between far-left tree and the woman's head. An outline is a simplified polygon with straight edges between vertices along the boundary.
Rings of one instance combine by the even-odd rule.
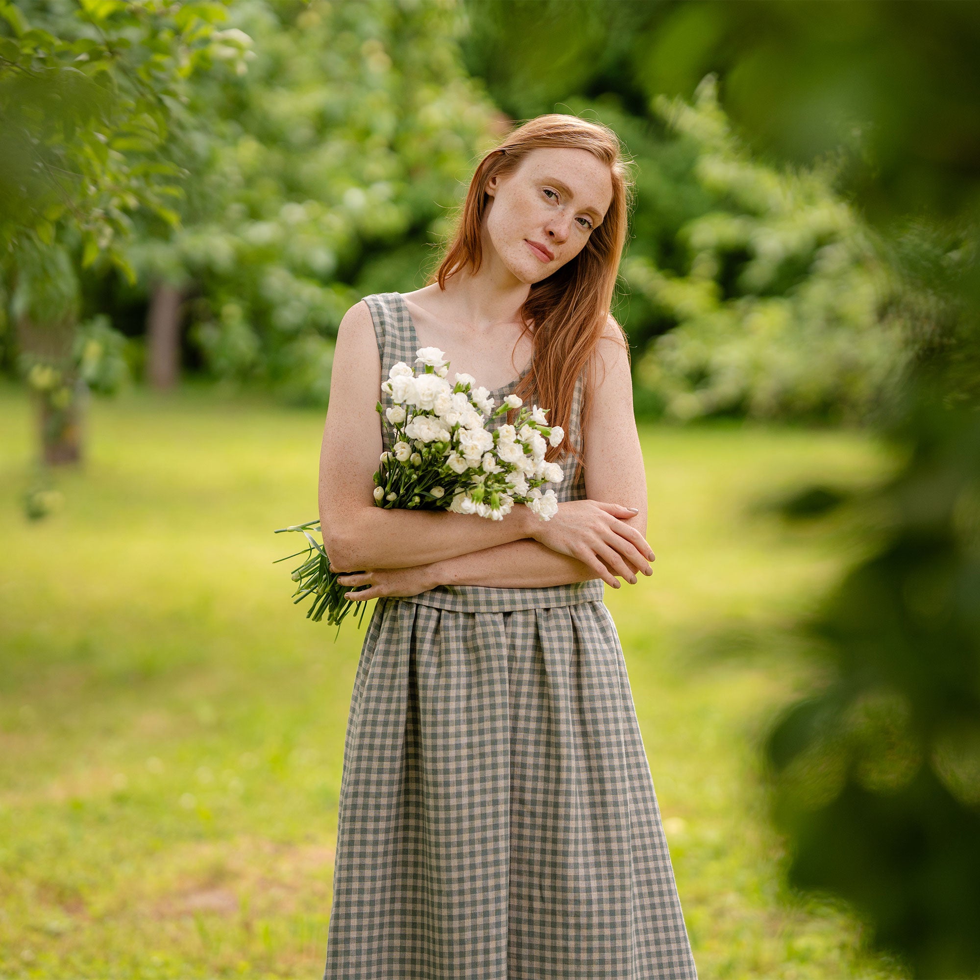
[[[133,261],[194,292],[214,374],[321,404],[337,325],[382,278],[371,264],[394,257],[382,288],[412,288],[493,110],[452,4],[241,0],[231,17],[256,57],[195,83],[182,223],[148,224]]]

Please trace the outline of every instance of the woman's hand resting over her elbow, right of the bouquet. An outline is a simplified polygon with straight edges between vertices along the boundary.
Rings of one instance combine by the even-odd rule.
[[[599,500],[565,501],[550,520],[534,518],[531,537],[560,555],[594,568],[603,581],[619,588],[616,575],[636,584],[636,572],[652,575],[656,558],[646,538],[626,521],[635,508]]]

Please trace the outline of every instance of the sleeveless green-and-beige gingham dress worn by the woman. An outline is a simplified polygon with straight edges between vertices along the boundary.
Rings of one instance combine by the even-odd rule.
[[[402,295],[365,302],[382,375],[412,365]],[[498,404],[518,380],[491,392]],[[580,401],[581,379],[575,440]],[[584,478],[558,496],[583,499]],[[345,737],[324,980],[697,976],[603,587],[377,601]]]

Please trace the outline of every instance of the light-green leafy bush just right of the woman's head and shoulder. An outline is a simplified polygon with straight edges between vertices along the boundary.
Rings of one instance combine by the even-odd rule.
[[[694,172],[716,205],[678,232],[686,274],[644,257],[623,264],[626,281],[676,324],[640,360],[638,385],[680,419],[867,417],[894,388],[906,336],[879,317],[887,277],[832,174],[754,159],[711,75],[693,105],[656,106],[698,146]]]

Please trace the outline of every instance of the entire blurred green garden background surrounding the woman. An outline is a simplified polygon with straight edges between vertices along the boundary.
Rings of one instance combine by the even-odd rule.
[[[333,338],[522,120],[613,126],[703,977],[980,976],[980,4],[0,0],[0,977],[319,976],[363,632]]]

